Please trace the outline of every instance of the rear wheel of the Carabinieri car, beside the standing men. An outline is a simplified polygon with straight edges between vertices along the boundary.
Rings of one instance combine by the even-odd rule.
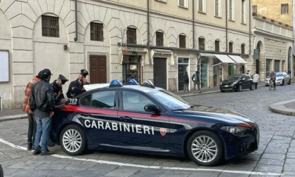
[[[87,149],[86,136],[77,125],[68,125],[60,133],[60,147],[67,155],[82,155]]]

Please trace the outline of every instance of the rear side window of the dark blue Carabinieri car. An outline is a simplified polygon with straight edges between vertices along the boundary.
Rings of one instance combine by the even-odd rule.
[[[115,91],[100,91],[80,99],[81,105],[114,109]]]

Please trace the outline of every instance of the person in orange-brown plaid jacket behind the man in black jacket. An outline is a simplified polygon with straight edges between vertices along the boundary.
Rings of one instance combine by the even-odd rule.
[[[29,127],[27,129],[27,150],[32,150],[37,126],[34,117],[34,112],[32,112],[32,110],[29,110],[29,96],[31,95],[32,87],[39,81],[41,81],[41,79],[37,75],[32,79],[32,81],[29,81],[27,83],[27,86],[25,88],[25,100],[22,104],[22,111],[27,112],[27,120],[29,121]]]

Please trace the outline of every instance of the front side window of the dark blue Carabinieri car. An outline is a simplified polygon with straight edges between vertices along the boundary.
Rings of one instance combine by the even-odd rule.
[[[145,105],[153,104],[146,96],[132,91],[122,91],[122,101],[123,109],[129,111],[145,111]]]

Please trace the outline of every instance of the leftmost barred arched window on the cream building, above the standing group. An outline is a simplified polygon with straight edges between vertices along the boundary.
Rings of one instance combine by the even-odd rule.
[[[42,36],[60,37],[58,17],[42,15]]]

